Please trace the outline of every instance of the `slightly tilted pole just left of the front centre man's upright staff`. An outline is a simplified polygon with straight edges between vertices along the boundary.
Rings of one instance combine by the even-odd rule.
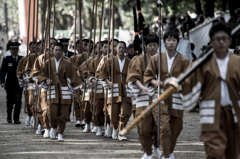
[[[109,58],[109,51],[110,51],[110,31],[111,31],[111,10],[112,10],[112,0],[109,0],[109,15],[108,15],[108,47],[107,47],[107,59]],[[110,76],[109,76],[110,80]],[[106,90],[106,97],[105,97],[105,127],[107,127],[107,99],[108,99],[108,89]]]

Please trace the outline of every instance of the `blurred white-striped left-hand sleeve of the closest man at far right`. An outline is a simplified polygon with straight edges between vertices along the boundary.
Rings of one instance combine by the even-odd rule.
[[[190,65],[188,69],[190,69],[194,64]],[[198,68],[181,83],[183,93],[182,102],[185,110],[191,111],[196,107],[198,99],[201,95],[201,88],[204,82],[203,79],[204,77],[201,73],[201,68]]]

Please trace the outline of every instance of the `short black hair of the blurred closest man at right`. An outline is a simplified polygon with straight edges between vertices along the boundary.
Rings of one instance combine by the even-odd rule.
[[[213,24],[213,26],[211,27],[211,29],[209,31],[210,39],[212,39],[214,34],[219,31],[223,31],[223,32],[227,33],[229,37],[231,37],[232,29],[230,28],[230,26],[224,22],[217,22],[217,23]]]

